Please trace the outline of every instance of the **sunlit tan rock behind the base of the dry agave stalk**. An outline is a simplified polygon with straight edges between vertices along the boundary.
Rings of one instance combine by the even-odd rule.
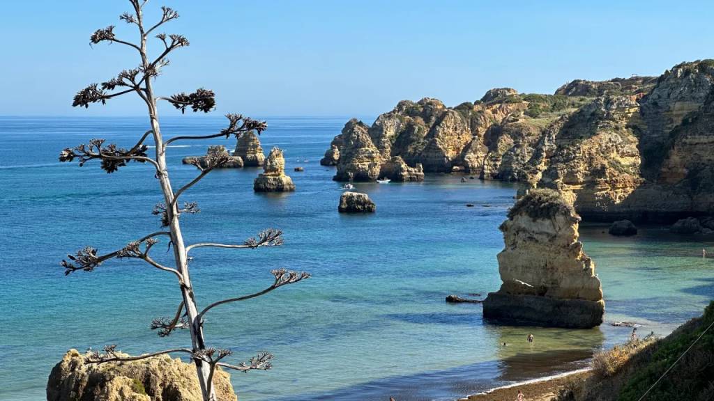
[[[69,350],[54,366],[47,381],[47,401],[203,401],[193,364],[160,355],[85,365],[88,355]],[[238,400],[230,375],[220,368],[213,385],[218,401]]]

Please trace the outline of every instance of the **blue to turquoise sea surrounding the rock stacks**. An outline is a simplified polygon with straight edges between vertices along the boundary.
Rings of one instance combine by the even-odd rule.
[[[613,238],[603,225],[584,224],[606,323],[593,330],[484,324],[481,305],[444,298],[498,289],[498,225],[515,186],[448,175],[360,183],[377,213],[340,215],[341,184],[318,162],[347,118],[266,119],[263,148],[283,148],[297,191],[256,194],[258,169],[216,171],[184,196],[201,213],[182,218],[188,243],[242,242],[268,227],[285,232],[280,248],[196,250],[191,272],[202,305],[269,285],[273,268],[313,275],[208,315],[209,345],[233,349],[234,362],[258,350],[276,356],[273,370],[233,373],[241,401],[454,400],[583,366],[593,351],[628,338],[631,329],[613,321],[664,335],[714,298],[714,260],[701,256],[702,248],[714,251],[714,241],[658,227]],[[166,136],[205,134],[223,119],[165,118],[163,126]],[[161,195],[148,166],[108,175],[96,163],[57,161],[62,148],[89,138],[131,146],[145,130],[144,118],[0,118],[0,400],[43,399],[51,367],[72,347],[116,344],[141,353],[189,344],[187,333],[160,338],[149,330],[153,318],[176,310],[172,275],[115,260],[65,277],[59,265],[84,245],[111,251],[159,228],[151,208]],[[170,148],[175,187],[196,176],[181,158],[213,144],[235,142]],[[295,166],[305,171],[294,173]],[[166,245],[154,248],[156,258],[166,260]]]

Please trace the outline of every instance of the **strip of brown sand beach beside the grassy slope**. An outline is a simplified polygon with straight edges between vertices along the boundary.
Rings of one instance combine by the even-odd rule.
[[[468,401],[514,401],[518,390],[523,392],[526,401],[550,401],[569,380],[575,377],[587,377],[590,372],[576,371],[568,375],[560,375],[545,380],[523,382],[520,385],[499,387],[485,394],[471,395],[462,400]]]

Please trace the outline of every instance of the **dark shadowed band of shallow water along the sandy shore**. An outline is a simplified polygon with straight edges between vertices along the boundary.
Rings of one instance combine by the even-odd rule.
[[[320,392],[276,399],[277,401],[384,401],[389,397],[409,401],[456,400],[513,382],[546,377],[585,367],[591,351],[556,350],[515,355],[503,360],[478,362],[449,370],[386,377]]]

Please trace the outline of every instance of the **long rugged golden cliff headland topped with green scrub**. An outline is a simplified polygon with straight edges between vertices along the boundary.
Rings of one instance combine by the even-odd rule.
[[[554,95],[496,88],[453,108],[401,101],[371,127],[348,123],[324,162],[336,180],[373,181],[399,156],[424,173],[557,189],[586,220],[673,221],[714,210],[713,90],[714,61],[704,60],[660,77],[576,80]]]

